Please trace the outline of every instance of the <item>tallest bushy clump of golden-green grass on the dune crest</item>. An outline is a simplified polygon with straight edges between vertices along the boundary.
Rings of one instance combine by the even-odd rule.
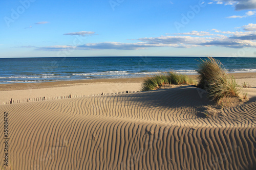
[[[197,70],[199,73],[198,87],[208,92],[209,98],[217,104],[224,104],[229,98],[239,98],[239,89],[236,80],[230,77],[219,60],[208,57],[202,60]]]

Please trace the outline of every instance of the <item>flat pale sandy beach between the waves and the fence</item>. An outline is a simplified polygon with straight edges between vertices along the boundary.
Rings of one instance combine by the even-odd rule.
[[[194,79],[198,75],[188,75]],[[231,74],[238,85],[249,84],[256,88],[256,73]],[[67,96],[90,96],[97,94],[113,94],[124,91],[141,91],[143,78],[130,79],[94,79],[77,81],[57,81],[45,83],[13,83],[0,84],[0,105],[13,101],[38,101],[38,99],[63,99]],[[16,103],[16,102],[15,102]],[[18,103],[18,102],[17,102]]]

